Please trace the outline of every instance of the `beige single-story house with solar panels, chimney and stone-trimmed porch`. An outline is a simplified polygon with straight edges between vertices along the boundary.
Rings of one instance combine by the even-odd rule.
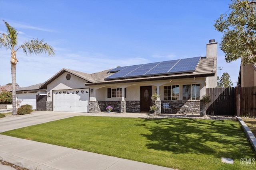
[[[177,113],[193,104],[202,110],[206,88],[217,87],[217,42],[206,44],[206,57],[192,57],[133,66],[122,66],[93,74],[63,68],[41,86],[47,89],[48,111],[98,112],[112,106],[113,111],[148,112],[163,104]],[[151,100],[152,94],[160,97]]]

